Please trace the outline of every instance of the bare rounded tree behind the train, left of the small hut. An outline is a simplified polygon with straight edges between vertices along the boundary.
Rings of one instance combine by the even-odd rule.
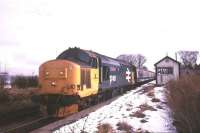
[[[119,55],[117,57],[117,59],[127,61],[127,62],[135,65],[137,68],[142,68],[144,63],[146,62],[146,57],[141,54],[136,54],[136,55],[123,54],[123,55]]]

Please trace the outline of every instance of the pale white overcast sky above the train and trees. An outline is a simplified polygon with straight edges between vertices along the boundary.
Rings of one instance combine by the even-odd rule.
[[[0,62],[37,74],[68,47],[116,57],[141,53],[146,66],[200,50],[199,0],[0,0]]]

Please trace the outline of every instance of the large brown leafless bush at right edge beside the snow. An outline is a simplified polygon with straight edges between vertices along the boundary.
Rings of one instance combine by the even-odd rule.
[[[167,84],[167,100],[180,133],[200,131],[200,75],[185,75]]]

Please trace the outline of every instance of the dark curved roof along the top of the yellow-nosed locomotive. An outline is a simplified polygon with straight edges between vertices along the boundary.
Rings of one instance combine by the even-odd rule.
[[[125,61],[114,59],[114,58],[96,53],[96,52],[91,51],[91,50],[83,50],[83,49],[76,48],[76,47],[75,48],[69,48],[69,49],[65,50],[56,59],[68,59],[68,60],[75,61],[76,63],[78,63],[80,65],[87,66],[87,63],[83,63],[83,62],[78,61],[74,58],[78,54],[82,54],[82,56],[85,56],[86,59],[89,58],[89,57],[100,58],[102,63],[104,63],[104,64],[110,64],[110,65],[115,65],[115,66],[130,65],[129,63],[127,63]]]

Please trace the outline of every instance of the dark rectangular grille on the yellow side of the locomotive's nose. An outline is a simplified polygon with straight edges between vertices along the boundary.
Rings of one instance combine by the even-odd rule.
[[[89,69],[81,69],[81,87],[86,85],[86,88],[91,88],[91,78]]]

